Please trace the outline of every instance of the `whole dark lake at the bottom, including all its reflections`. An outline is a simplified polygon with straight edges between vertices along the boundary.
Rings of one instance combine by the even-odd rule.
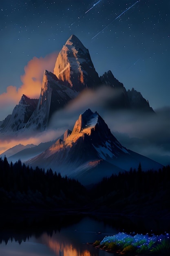
[[[4,219],[1,219],[3,222]],[[13,228],[12,228],[13,227]],[[162,230],[160,229],[162,227]],[[0,229],[0,255],[3,256],[113,256],[87,243],[103,240],[119,232],[163,234],[167,222],[153,219],[109,218],[79,214],[51,215],[46,218],[19,218],[5,222]],[[153,230],[155,228],[155,230]]]

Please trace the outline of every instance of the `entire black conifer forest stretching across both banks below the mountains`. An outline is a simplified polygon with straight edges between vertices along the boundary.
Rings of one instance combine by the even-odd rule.
[[[97,174],[96,174],[97,175]],[[130,168],[104,177],[91,187],[62,177],[51,169],[26,166],[20,160],[9,164],[0,158],[0,204],[6,207],[86,207],[90,211],[112,213],[170,212],[170,166],[159,171]]]

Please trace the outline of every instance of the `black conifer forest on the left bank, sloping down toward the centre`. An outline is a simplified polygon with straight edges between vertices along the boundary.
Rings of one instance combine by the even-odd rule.
[[[0,158],[1,205],[81,205],[85,190],[77,180],[62,177],[51,169],[33,169],[20,160],[9,164],[7,157]]]

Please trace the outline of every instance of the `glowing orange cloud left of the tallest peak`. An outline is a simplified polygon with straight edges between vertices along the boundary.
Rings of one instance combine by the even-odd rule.
[[[22,85],[20,88],[8,86],[7,92],[0,94],[0,120],[11,114],[13,108],[19,103],[23,94],[29,98],[38,99],[42,85],[44,70],[53,72],[57,52],[46,55],[44,58],[33,57],[24,67],[25,73],[21,76]]]

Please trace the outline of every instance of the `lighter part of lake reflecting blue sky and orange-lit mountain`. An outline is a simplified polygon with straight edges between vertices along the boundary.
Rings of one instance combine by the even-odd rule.
[[[50,232],[6,231],[0,234],[0,255],[104,256],[108,253],[86,243],[102,240],[104,236],[117,232],[117,229],[105,225],[104,222],[90,218],[84,218],[78,223]]]

